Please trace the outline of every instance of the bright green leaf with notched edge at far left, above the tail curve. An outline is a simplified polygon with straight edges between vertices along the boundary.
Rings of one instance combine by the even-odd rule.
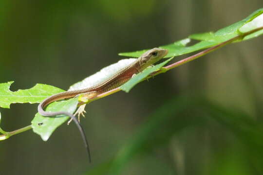
[[[43,99],[63,91],[53,86],[37,84],[30,89],[13,92],[9,89],[12,83],[14,82],[0,83],[0,107],[10,108],[14,103],[40,103]]]

